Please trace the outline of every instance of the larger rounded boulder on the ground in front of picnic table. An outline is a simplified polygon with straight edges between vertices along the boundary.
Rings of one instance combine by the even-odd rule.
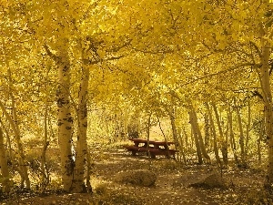
[[[149,187],[155,184],[157,175],[148,169],[137,169],[126,172],[119,172],[114,179],[120,183],[130,183],[137,186]]]

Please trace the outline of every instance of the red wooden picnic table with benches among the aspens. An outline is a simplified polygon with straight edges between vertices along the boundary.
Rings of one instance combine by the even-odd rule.
[[[134,145],[125,146],[125,149],[131,151],[133,156],[136,156],[138,152],[146,152],[147,156],[150,154],[153,159],[156,159],[157,155],[165,155],[167,158],[173,156],[175,158],[177,153],[177,150],[168,148],[168,146],[175,144],[171,141],[154,141],[143,138],[130,138],[130,140],[134,142]]]

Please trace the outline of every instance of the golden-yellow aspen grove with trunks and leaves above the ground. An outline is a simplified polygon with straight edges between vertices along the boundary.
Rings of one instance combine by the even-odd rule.
[[[2,192],[50,188],[48,149],[60,188],[91,190],[92,149],[150,133],[179,163],[272,186],[270,1],[3,0],[0,16]]]

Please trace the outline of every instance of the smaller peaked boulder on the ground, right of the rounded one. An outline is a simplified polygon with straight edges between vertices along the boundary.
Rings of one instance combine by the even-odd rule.
[[[202,187],[207,189],[226,189],[227,184],[225,180],[219,174],[212,174],[207,176],[205,179],[198,181],[197,183],[193,183],[190,187]]]

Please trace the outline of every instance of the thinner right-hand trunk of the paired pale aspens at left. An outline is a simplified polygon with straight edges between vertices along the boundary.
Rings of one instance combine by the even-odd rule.
[[[85,164],[87,153],[87,90],[89,82],[89,67],[82,67],[82,79],[78,102],[78,132],[76,142],[76,166],[74,169],[73,192],[86,192]]]

